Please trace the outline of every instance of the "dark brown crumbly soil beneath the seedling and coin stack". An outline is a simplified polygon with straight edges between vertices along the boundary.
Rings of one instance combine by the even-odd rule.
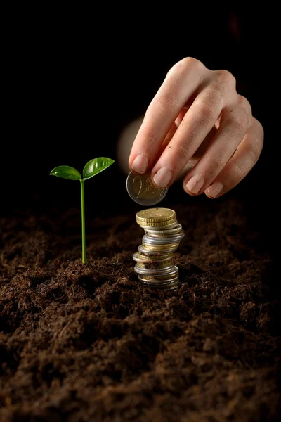
[[[133,212],[87,219],[86,265],[79,210],[2,219],[1,422],[279,419],[280,302],[259,217],[230,197],[174,209],[174,293],[138,283]]]

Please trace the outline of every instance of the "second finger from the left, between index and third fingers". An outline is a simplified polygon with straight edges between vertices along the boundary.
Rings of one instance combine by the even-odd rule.
[[[152,180],[157,186],[163,188],[174,182],[216,124],[223,108],[234,101],[235,78],[229,72],[223,73],[223,78],[225,75],[228,78],[225,81],[207,83],[183,117],[169,146],[152,169]]]

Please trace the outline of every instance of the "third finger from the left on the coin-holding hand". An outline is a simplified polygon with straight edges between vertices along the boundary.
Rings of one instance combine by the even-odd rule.
[[[200,195],[204,192],[235,153],[251,121],[249,101],[237,96],[235,106],[228,106],[223,110],[220,127],[207,151],[186,175],[184,183],[187,193]]]

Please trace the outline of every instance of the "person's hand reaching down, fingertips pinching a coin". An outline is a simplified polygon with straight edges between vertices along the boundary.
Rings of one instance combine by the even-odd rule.
[[[218,198],[234,188],[259,159],[263,127],[237,94],[227,70],[209,70],[195,58],[174,65],[152,99],[138,131],[129,167],[171,186],[187,164],[183,189]]]

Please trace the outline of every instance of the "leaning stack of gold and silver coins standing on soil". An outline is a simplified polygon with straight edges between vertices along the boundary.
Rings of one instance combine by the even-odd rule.
[[[178,288],[180,281],[174,252],[184,233],[176,221],[176,212],[169,208],[150,208],[138,212],[136,222],[145,229],[143,243],[133,255],[138,279],[153,288]]]

